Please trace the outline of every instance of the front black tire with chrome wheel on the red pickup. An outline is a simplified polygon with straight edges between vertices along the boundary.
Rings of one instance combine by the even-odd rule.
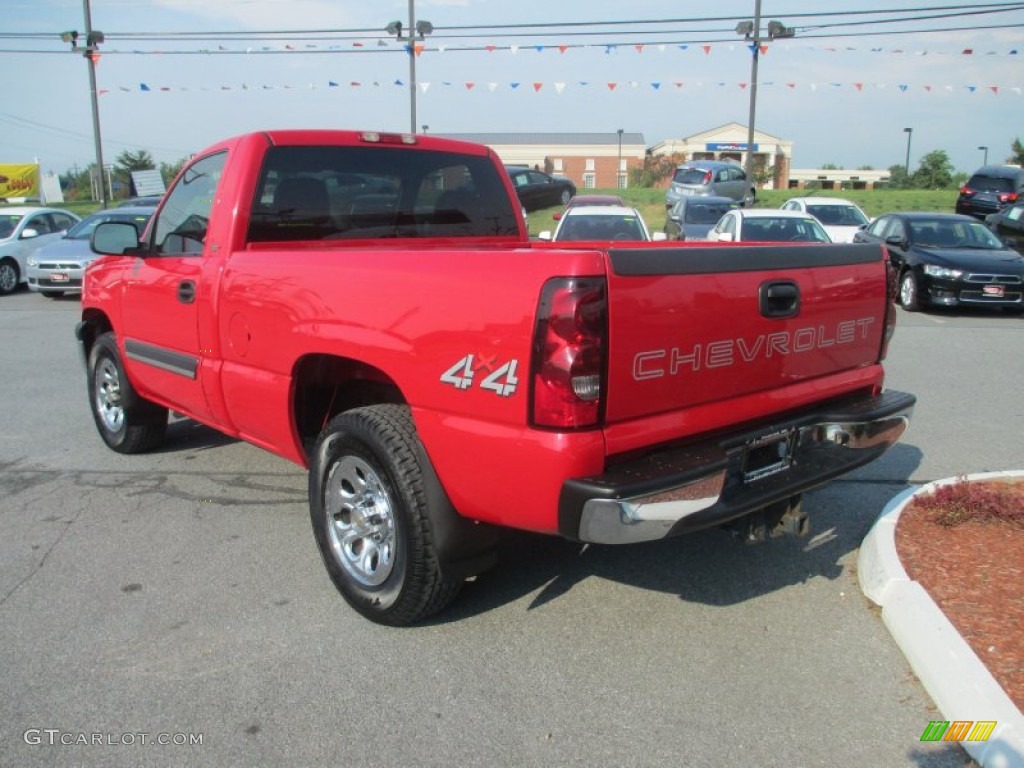
[[[135,393],[113,333],[93,343],[88,373],[89,409],[103,442],[119,454],[140,454],[163,440],[167,409]]]

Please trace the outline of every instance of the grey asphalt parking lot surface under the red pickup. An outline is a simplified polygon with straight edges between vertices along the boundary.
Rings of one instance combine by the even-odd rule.
[[[808,539],[514,536],[394,630],[329,582],[301,468],[190,422],[102,445],[77,309],[0,297],[0,766],[965,764],[920,741],[939,715],[854,567],[908,483],[1024,468],[1021,317],[901,312],[911,428],[809,496]]]

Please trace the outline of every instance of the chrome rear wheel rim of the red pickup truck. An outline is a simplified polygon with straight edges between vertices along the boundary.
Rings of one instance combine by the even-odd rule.
[[[395,515],[380,477],[361,459],[341,457],[328,474],[324,503],[337,563],[366,587],[383,584],[394,567]]]

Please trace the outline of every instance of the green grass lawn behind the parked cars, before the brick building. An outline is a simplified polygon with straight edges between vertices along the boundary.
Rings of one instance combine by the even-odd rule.
[[[581,190],[583,194],[584,190]],[[587,189],[587,194],[618,195],[626,203],[633,206],[651,231],[662,231],[665,226],[665,189],[632,188],[632,189]],[[860,206],[871,218],[893,211],[943,211],[953,212],[956,202],[956,189],[761,189],[758,191],[757,208],[778,208],[790,198],[803,196],[821,196],[843,198]],[[561,206],[534,211],[527,217],[529,233],[537,234],[544,229],[554,229],[556,221],[552,214],[561,210]]]

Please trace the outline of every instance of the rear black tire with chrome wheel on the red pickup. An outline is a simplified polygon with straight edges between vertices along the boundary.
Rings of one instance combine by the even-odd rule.
[[[330,421],[309,466],[309,516],[324,565],[356,611],[401,627],[455,599],[427,499],[435,480],[404,406],[369,406]]]

